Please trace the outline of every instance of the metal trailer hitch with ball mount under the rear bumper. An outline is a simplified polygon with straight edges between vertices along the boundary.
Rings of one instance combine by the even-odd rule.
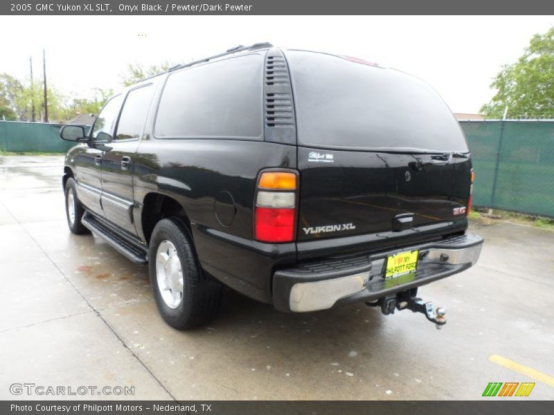
[[[368,306],[380,307],[384,315],[394,314],[395,309],[398,311],[411,310],[413,313],[422,313],[427,320],[435,323],[437,330],[442,329],[446,324],[445,308],[437,307],[435,309],[433,303],[430,301],[424,302],[419,297],[415,297],[417,293],[418,289],[412,288],[409,291],[402,291],[402,293],[398,293],[397,295],[382,297],[379,298],[377,302],[366,304]]]

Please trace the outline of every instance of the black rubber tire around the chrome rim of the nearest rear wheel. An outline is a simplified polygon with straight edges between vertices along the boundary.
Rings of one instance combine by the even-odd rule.
[[[167,246],[166,241],[175,247],[183,276],[181,301],[178,306],[173,304],[175,308],[168,306],[163,299],[157,276],[158,248],[161,243]],[[213,319],[220,304],[221,285],[202,274],[190,233],[179,219],[162,219],[155,226],[150,238],[148,268],[154,300],[167,324],[178,330],[187,330],[203,326]]]

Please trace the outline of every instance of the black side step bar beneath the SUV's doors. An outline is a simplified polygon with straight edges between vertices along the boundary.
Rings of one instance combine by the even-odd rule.
[[[81,222],[93,234],[98,235],[109,243],[113,248],[121,252],[125,257],[137,264],[146,264],[148,262],[148,248],[141,244],[138,239],[124,236],[117,232],[107,221],[94,216],[90,212],[85,212]]]

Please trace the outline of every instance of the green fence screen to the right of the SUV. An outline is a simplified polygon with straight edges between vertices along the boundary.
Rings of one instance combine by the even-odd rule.
[[[474,206],[554,217],[554,122],[462,121]]]

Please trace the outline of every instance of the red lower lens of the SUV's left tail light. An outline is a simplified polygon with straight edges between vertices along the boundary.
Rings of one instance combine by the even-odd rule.
[[[290,242],[294,240],[296,210],[256,207],[255,237],[264,242]]]

